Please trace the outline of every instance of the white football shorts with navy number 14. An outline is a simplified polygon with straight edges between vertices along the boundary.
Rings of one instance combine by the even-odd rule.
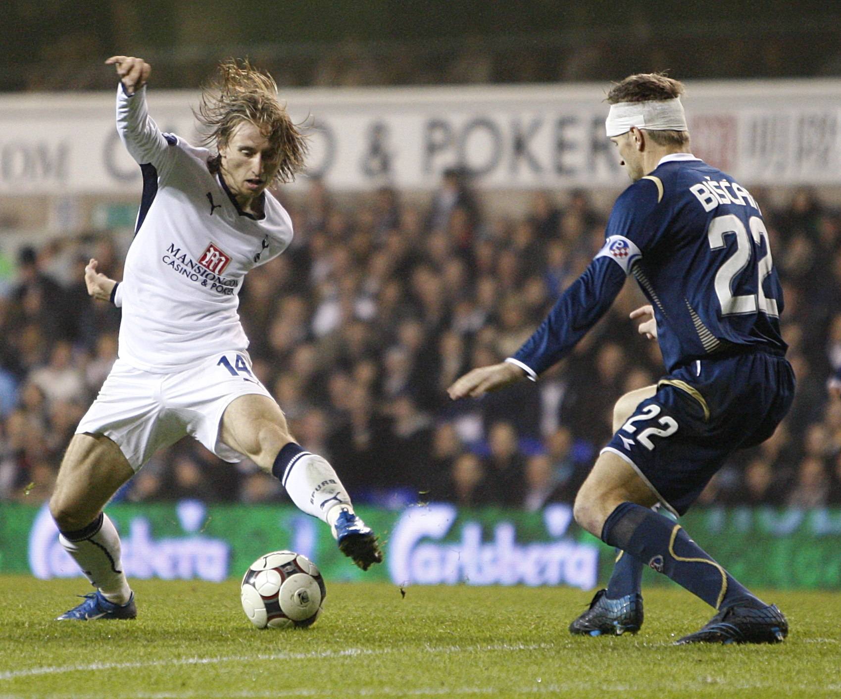
[[[243,455],[220,442],[222,414],[241,395],[274,400],[246,352],[225,352],[176,373],[150,373],[117,360],[76,433],[113,440],[135,472],[158,449],[190,435],[225,461]]]

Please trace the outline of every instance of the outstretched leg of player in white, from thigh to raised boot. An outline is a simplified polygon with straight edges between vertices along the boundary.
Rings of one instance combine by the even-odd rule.
[[[367,570],[383,554],[370,527],[324,458],[305,451],[289,433],[283,411],[265,395],[241,395],[222,416],[220,440],[280,479],[296,506],[330,525],[341,552]]]

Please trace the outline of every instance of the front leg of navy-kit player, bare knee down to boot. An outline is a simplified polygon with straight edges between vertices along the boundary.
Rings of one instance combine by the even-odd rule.
[[[615,453],[602,453],[575,499],[576,522],[605,543],[621,548],[668,575],[718,613],[679,643],[776,643],[788,623],[696,544],[683,527],[648,509],[658,498]]]

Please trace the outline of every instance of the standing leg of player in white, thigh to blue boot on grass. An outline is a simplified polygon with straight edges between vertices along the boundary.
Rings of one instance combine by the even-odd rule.
[[[103,435],[74,435],[61,462],[50,513],[59,540],[96,593],[60,619],[134,618],[134,596],[120,563],[119,536],[103,507],[134,475],[119,447]]]

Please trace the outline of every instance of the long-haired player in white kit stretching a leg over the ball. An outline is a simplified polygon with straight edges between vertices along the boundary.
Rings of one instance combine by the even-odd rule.
[[[295,505],[320,517],[362,569],[382,560],[331,465],[305,451],[251,370],[237,315],[246,273],[277,257],[292,223],[267,187],[304,164],[302,135],[271,77],[247,62],[222,66],[198,118],[217,154],[161,134],[149,118],[151,66],[113,56],[117,127],[143,171],[135,239],[117,283],[85,270],[88,293],[123,310],[119,358],[77,426],[50,512],[66,551],[97,588],[59,619],[133,618],[119,536],[103,506],[161,447],[190,435],[225,461],[242,456],[275,474]]]

